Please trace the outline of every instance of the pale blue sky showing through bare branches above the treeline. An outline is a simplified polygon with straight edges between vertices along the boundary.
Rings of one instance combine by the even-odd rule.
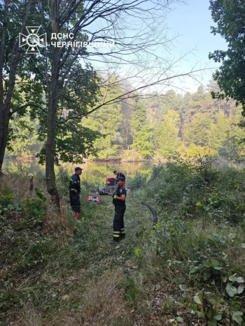
[[[137,64],[134,64],[134,54],[132,54],[130,51],[127,57],[123,57],[123,59],[127,59],[127,63],[122,63],[120,67],[117,67],[116,64],[115,67],[113,67],[114,64],[112,63],[112,71],[114,69],[114,72],[118,74],[122,79],[128,78],[133,87],[135,88],[138,88],[139,86],[143,86],[145,84],[149,85],[151,84],[151,81],[156,82],[159,77],[159,79],[162,80],[163,78],[169,76],[187,74],[192,70],[205,69],[205,71],[196,73],[195,76],[193,76],[194,78],[181,77],[181,79],[170,79],[171,85],[168,85],[169,81],[167,81],[167,85],[160,85],[159,83],[158,85],[147,87],[142,90],[142,93],[147,94],[155,90],[157,90],[159,93],[165,93],[169,89],[174,89],[175,91],[181,94],[184,94],[186,91],[195,92],[198,86],[200,86],[201,84],[204,87],[207,86],[208,81],[212,78],[212,73],[215,72],[215,70],[219,67],[219,63],[215,63],[213,60],[208,59],[208,54],[210,52],[212,53],[215,50],[226,50],[227,44],[225,40],[221,38],[220,35],[214,36],[210,32],[210,27],[216,24],[213,22],[211,18],[211,11],[208,9],[209,0],[183,1],[185,1],[186,4],[181,3],[174,5],[175,9],[167,14],[165,22],[163,22],[164,19],[159,19],[159,25],[157,20],[156,26],[151,26],[150,24],[148,24],[148,26],[152,27],[152,33],[155,33],[152,35],[160,37],[157,40],[158,42],[161,42],[161,45],[149,48],[151,56],[149,56],[149,59],[143,58],[143,60],[145,60],[146,62],[146,66],[148,64],[147,72],[143,71],[141,74],[137,74],[137,69],[140,70],[141,67],[138,68]],[[154,3],[158,4],[161,2]],[[152,1],[144,2],[142,6],[143,9],[147,12],[147,9],[152,6]],[[160,13],[159,15],[161,17]],[[145,20],[145,22],[140,20],[137,15],[135,18],[132,18],[132,16],[129,15],[128,19],[125,19],[125,21],[125,30],[123,28],[122,30],[124,30],[125,36],[128,39],[132,38],[132,42],[134,42],[134,36],[137,35],[137,32],[141,34],[141,29],[145,31],[144,23],[146,23],[146,25],[148,23],[147,20]],[[103,22],[101,23],[103,24]],[[164,43],[162,43],[165,41],[165,25],[168,28],[167,39],[173,39],[173,44],[171,46],[170,52],[166,50],[166,48],[164,47]],[[97,24],[95,24],[94,27],[95,30],[98,29]],[[113,32],[112,35],[114,35]],[[147,32],[145,32],[145,36],[148,36],[150,38],[150,34],[147,34]],[[161,38],[161,36],[163,38]],[[135,39],[138,42],[137,37]],[[169,45],[169,43],[167,44]],[[146,48],[146,50],[148,49]],[[107,52],[108,50],[105,51]],[[99,52],[101,52],[101,49]],[[185,58],[178,61],[178,59],[185,53],[188,53],[187,55],[185,55]],[[161,62],[163,62],[163,66],[161,66],[160,64],[161,68],[159,66],[159,63],[156,61],[155,55],[160,58],[160,61],[162,60]],[[137,52],[135,57],[138,58]],[[128,62],[130,62],[130,60],[131,64],[128,65]],[[169,61],[172,60],[177,60],[177,63],[174,64],[174,68],[172,68],[171,71],[166,68],[168,67]],[[166,66],[164,62],[167,62]],[[95,66],[95,68],[98,70],[100,70],[100,68],[103,69],[105,67],[107,69],[106,60],[104,62],[99,61],[98,66]],[[134,78],[134,76],[139,76],[139,79],[137,79],[137,77]]]

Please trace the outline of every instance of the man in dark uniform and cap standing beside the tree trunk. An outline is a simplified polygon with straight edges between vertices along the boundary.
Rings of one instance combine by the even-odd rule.
[[[76,219],[80,218],[80,175],[82,174],[81,168],[75,168],[75,174],[70,179],[69,192],[70,192],[70,204],[74,211]]]

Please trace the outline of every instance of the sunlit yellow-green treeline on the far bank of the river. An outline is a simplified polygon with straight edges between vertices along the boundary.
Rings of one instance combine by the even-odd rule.
[[[77,126],[100,133],[94,142],[100,159],[167,159],[176,153],[237,159],[243,154],[243,129],[238,125],[241,107],[233,100],[213,100],[210,92],[218,90],[216,82],[210,81],[207,90],[200,86],[193,94],[155,92],[105,105]],[[106,95],[113,98],[120,92],[117,86]],[[18,118],[12,128],[16,137],[8,155],[34,157],[41,148],[36,136],[38,120]]]

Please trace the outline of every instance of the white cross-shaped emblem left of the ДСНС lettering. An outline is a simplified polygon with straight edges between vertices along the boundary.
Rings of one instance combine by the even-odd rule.
[[[28,35],[19,33],[19,46],[27,47],[26,53],[40,53],[39,47],[47,46],[47,33],[38,35],[40,27],[26,26]]]

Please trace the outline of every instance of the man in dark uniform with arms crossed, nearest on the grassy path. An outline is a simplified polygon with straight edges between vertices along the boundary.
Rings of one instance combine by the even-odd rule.
[[[112,194],[113,204],[115,206],[115,215],[113,221],[113,243],[117,243],[125,238],[124,213],[126,211],[127,191],[123,186],[125,179],[119,177],[116,179],[117,190]]]

